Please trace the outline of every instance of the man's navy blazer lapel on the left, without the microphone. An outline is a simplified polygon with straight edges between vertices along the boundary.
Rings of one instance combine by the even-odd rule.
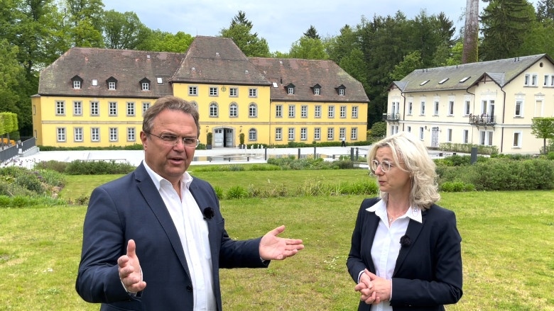
[[[160,225],[163,227],[163,230],[165,231],[169,242],[173,246],[175,254],[177,254],[181,265],[183,266],[183,268],[185,268],[185,271],[190,278],[187,259],[185,259],[185,251],[183,250],[183,245],[181,244],[181,241],[179,239],[177,229],[175,229],[175,223],[173,223],[173,219],[171,219],[171,215],[169,214],[168,209],[165,207],[165,203],[163,202],[160,193],[156,189],[156,186],[154,186],[150,175],[148,175],[148,172],[146,171],[146,168],[142,163],[136,169],[135,176],[139,191],[141,191],[144,200],[146,200],[146,203],[148,204],[154,215],[156,215],[158,222],[160,222]]]

